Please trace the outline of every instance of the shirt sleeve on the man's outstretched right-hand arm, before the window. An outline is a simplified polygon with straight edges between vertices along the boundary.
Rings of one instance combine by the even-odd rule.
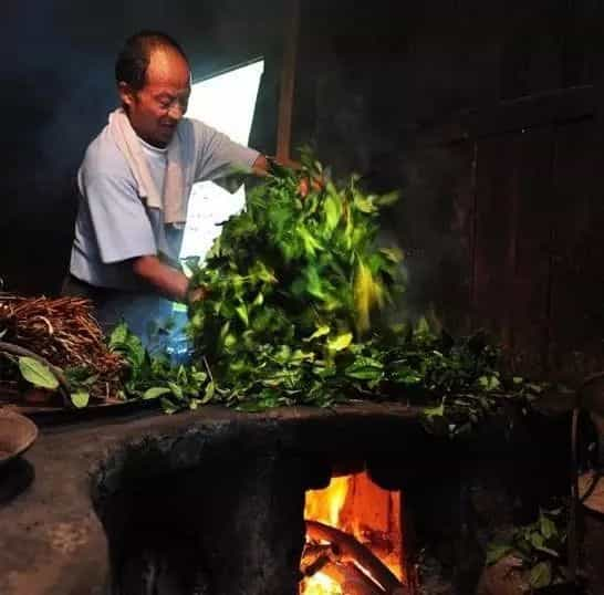
[[[238,170],[249,170],[260,155],[199,121],[195,121],[194,126],[198,150],[195,181],[216,180]]]

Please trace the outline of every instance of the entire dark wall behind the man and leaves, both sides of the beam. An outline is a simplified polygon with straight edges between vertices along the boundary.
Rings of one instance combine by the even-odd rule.
[[[399,188],[412,312],[485,326],[519,370],[601,365],[604,0],[303,0],[294,144],[337,175]],[[53,293],[72,181],[115,105],[113,61],[142,28],[177,36],[196,77],[259,54],[251,144],[274,152],[278,0],[53,2],[4,9],[0,275]]]

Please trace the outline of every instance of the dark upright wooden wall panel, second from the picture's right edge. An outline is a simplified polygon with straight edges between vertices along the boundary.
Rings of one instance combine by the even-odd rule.
[[[472,310],[520,374],[545,361],[551,131],[478,145]]]

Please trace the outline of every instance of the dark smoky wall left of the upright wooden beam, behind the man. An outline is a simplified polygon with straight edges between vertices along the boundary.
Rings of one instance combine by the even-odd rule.
[[[185,46],[194,79],[267,59],[251,144],[274,153],[282,9],[277,0],[24,0],[3,9],[0,276],[23,293],[59,291],[87,144],[117,105],[123,41],[160,29]]]

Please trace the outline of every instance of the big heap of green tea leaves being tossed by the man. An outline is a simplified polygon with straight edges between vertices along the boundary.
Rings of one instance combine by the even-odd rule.
[[[378,218],[396,198],[363,191],[354,176],[336,186],[309,154],[301,170],[275,167],[248,194],[206,263],[187,263],[209,289],[189,324],[212,374],[205,400],[249,411],[399,400],[455,434],[499,397],[529,395],[522,379],[502,377],[485,337],[455,341],[400,314],[392,324],[403,254],[378,244]]]

